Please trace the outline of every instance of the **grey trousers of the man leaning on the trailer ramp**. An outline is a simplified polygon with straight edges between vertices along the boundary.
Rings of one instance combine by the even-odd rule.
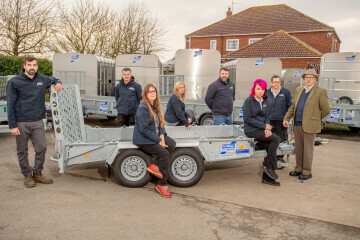
[[[36,122],[17,122],[20,134],[16,136],[16,149],[19,160],[21,173],[24,176],[31,176],[32,173],[39,173],[43,170],[45,153],[46,153],[46,137],[44,122],[42,120]],[[35,150],[34,167],[29,165],[28,142],[31,140]]]

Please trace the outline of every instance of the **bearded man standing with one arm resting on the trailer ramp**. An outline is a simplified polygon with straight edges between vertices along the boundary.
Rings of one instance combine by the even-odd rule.
[[[38,65],[34,57],[24,58],[23,71],[10,79],[6,85],[8,122],[12,135],[16,136],[16,148],[21,168],[25,176],[25,187],[35,187],[37,183],[52,183],[51,178],[41,174],[43,170],[46,137],[45,91],[52,84],[56,91],[61,91],[61,82],[37,73]],[[28,141],[31,140],[35,150],[35,163],[31,168],[28,158]]]

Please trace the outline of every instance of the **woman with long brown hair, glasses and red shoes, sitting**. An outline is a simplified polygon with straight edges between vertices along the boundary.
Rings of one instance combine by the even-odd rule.
[[[167,136],[164,124],[156,87],[147,84],[135,115],[133,143],[154,157],[155,161],[147,171],[159,178],[156,191],[163,197],[171,197],[167,187],[168,166],[169,156],[175,149],[176,142]]]

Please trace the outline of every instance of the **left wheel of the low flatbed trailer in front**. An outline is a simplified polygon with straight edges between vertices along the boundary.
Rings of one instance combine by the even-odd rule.
[[[143,187],[151,179],[146,171],[151,157],[138,149],[121,152],[115,159],[113,172],[119,183],[125,187]]]

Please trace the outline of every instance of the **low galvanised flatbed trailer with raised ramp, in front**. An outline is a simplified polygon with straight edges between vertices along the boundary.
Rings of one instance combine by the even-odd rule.
[[[67,166],[105,161],[112,167],[120,184],[141,187],[148,183],[146,168],[152,157],[132,144],[133,127],[91,128],[84,124],[79,88],[67,85],[61,92],[51,91],[51,106],[56,136],[55,154],[59,172]],[[266,156],[255,150],[255,141],[247,138],[240,126],[166,127],[177,143],[170,156],[169,183],[179,187],[196,184],[204,173],[204,163]],[[277,154],[294,154],[293,143],[280,144]],[[287,166],[287,163],[282,163]]]

